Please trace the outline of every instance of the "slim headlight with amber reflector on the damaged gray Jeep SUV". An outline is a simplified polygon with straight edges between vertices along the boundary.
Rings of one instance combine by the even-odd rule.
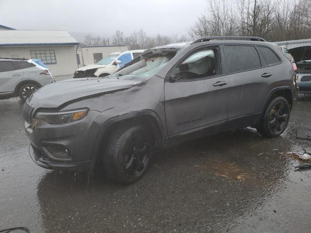
[[[64,124],[72,121],[81,120],[83,117],[86,116],[87,112],[87,108],[69,110],[64,112],[38,112],[35,115],[35,119],[41,119],[50,124]]]

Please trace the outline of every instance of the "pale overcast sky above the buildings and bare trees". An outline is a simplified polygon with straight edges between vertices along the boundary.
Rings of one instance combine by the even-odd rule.
[[[77,37],[111,36],[116,30],[129,35],[140,28],[148,35],[186,34],[206,5],[206,0],[0,0],[0,24],[66,30]]]

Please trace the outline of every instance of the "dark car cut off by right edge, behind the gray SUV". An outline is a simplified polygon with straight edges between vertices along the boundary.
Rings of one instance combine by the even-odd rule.
[[[290,49],[297,66],[299,93],[311,94],[311,46]]]

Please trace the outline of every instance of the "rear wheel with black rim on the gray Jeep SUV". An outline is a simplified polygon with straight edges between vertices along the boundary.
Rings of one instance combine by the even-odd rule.
[[[284,132],[290,118],[290,105],[283,97],[276,97],[267,106],[264,116],[256,127],[265,137],[277,137]]]

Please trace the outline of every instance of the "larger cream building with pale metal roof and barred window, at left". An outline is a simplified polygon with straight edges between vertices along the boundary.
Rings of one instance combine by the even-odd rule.
[[[78,68],[78,42],[68,32],[0,28],[0,57],[40,59],[54,76],[72,75]]]

